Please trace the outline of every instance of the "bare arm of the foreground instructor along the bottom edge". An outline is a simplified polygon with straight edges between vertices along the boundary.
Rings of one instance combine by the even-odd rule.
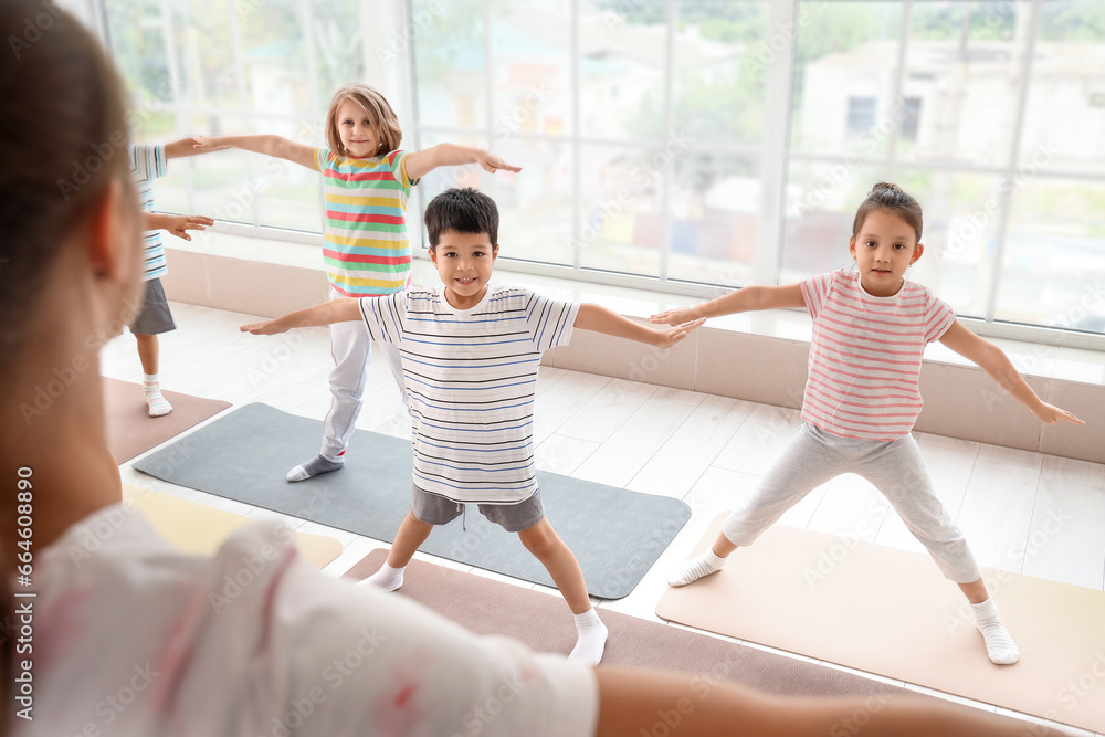
[[[598,737],[653,734],[665,719],[665,734],[764,735],[806,737],[852,734],[855,715],[865,717],[870,737],[1022,737],[1024,724],[974,714],[935,703],[867,696],[854,698],[780,698],[729,683],[688,674],[599,666]],[[676,722],[676,718],[678,719]],[[673,724],[674,723],[674,724]],[[1062,735],[1045,727],[1040,735]]]

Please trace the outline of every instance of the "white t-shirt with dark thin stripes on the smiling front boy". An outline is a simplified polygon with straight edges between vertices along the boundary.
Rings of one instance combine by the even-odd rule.
[[[579,306],[512,286],[455,309],[443,287],[362,297],[372,340],[398,345],[413,417],[414,485],[454,502],[517,504],[537,491],[534,388]]]

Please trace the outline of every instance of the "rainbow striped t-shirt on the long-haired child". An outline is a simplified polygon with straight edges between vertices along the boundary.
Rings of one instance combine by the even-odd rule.
[[[323,257],[330,286],[346,297],[402,292],[410,281],[407,200],[418,179],[407,178],[409,151],[341,158],[315,149],[323,173],[326,229]]]

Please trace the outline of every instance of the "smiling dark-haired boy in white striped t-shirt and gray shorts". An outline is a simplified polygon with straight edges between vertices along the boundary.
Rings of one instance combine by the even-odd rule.
[[[488,286],[498,255],[498,210],[473,189],[435,197],[425,224],[443,286],[333,299],[242,330],[272,335],[359,322],[373,340],[398,346],[413,418],[411,510],[387,564],[368,582],[398,589],[433,526],[477,504],[490,520],[518,534],[560,589],[579,634],[570,657],[597,664],[607,629],[591,608],[576,557],[545,518],[537,488],[534,389],[541,352],[567,345],[572,328],[669,348],[702,320],[653,329],[598,305]]]

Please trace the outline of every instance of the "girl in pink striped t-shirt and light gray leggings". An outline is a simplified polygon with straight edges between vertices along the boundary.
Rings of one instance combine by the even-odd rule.
[[[652,317],[654,323],[675,323],[782,307],[806,307],[813,317],[804,424],[747,507],[730,515],[713,547],[678,567],[669,582],[686,586],[720,570],[730,552],[751,545],[811,489],[851,472],[886,496],[944,576],[959,585],[990,660],[1011,664],[1020,657],[1017,645],[998,618],[962,533],[933,493],[909,434],[920,413],[925,346],[939,340],[975,361],[1042,422],[1085,423],[1041,401],[1000,348],[964,327],[932,292],[904,278],[925,250],[922,222],[915,199],[895,185],[875,185],[852,224],[849,250],[855,271],[842,269],[788,286],[750,286]]]

